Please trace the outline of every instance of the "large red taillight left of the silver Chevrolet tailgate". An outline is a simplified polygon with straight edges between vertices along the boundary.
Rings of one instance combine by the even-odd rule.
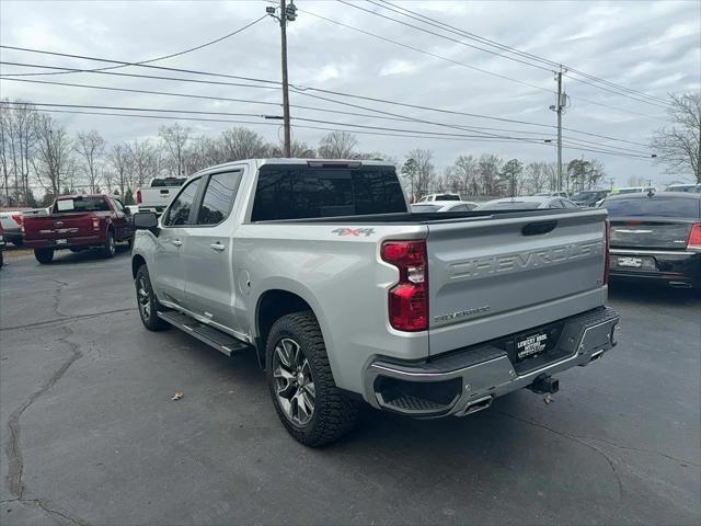
[[[428,329],[428,259],[426,241],[386,241],[382,261],[399,270],[389,294],[390,324],[399,331]]]

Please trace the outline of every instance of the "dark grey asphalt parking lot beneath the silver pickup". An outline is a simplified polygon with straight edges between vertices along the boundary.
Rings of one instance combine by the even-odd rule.
[[[310,450],[252,354],[141,327],[125,249],[5,262],[2,524],[701,522],[701,299],[687,290],[612,287],[619,346],[560,375],[552,403],[368,411]]]

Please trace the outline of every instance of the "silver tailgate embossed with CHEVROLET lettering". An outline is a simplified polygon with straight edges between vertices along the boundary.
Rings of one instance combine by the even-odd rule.
[[[599,307],[606,211],[428,226],[429,354]]]

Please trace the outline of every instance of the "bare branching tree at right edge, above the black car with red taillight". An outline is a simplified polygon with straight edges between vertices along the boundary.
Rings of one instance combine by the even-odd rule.
[[[671,124],[655,133],[651,147],[667,173],[689,174],[701,183],[701,92],[670,98]]]

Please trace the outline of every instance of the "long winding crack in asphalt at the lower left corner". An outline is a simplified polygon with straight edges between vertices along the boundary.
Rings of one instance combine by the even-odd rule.
[[[28,493],[26,484],[24,482],[24,457],[22,455],[21,447],[21,425],[20,420],[24,412],[32,407],[34,402],[36,402],[43,395],[49,391],[62,377],[66,375],[70,366],[76,363],[83,354],[80,352],[80,346],[76,343],[68,341],[68,338],[72,334],[72,331],[64,327],[65,335],[57,339],[57,342],[62,342],[70,348],[70,355],[67,359],[65,359],[61,365],[51,374],[51,376],[39,387],[38,390],[34,391],[30,395],[24,402],[18,407],[12,414],[10,414],[10,419],[8,421],[8,428],[10,432],[10,441],[5,446],[5,455],[8,457],[8,474],[5,477],[5,481],[10,492],[16,496],[15,501],[20,502],[33,502],[46,513],[60,515],[67,521],[70,521],[74,524],[83,524],[69,515],[58,512],[56,510],[50,508],[46,503],[44,503],[41,499],[25,499],[25,495]],[[11,501],[9,501],[11,502]]]

